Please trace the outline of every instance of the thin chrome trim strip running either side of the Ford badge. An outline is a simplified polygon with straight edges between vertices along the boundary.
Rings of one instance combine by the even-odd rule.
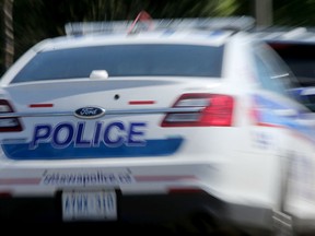
[[[174,107],[174,108],[154,108],[154,109],[112,109],[105,111],[108,115],[136,115],[136,114],[166,114],[166,113],[199,113],[203,107]],[[55,117],[55,116],[75,116],[73,111],[44,111],[44,113],[3,113],[0,118],[13,117]]]

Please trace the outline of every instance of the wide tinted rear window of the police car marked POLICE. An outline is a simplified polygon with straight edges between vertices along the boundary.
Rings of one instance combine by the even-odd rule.
[[[110,45],[43,51],[12,83],[89,78],[93,70],[108,76],[221,76],[223,46]]]

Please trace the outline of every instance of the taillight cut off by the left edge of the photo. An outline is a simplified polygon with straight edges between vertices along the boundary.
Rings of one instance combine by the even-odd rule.
[[[22,126],[19,118],[10,117],[10,113],[13,111],[14,110],[8,101],[0,99],[0,132],[22,131]]]

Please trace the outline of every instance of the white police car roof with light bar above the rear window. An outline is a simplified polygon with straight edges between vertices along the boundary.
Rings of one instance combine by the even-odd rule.
[[[74,22],[65,25],[66,35],[36,45],[37,50],[56,50],[104,44],[198,44],[220,46],[231,35],[247,31],[248,16],[210,19],[163,19],[141,23],[131,21]]]

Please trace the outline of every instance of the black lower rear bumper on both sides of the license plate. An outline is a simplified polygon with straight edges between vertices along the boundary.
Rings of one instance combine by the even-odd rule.
[[[200,224],[219,223],[245,229],[272,229],[270,209],[235,205],[223,202],[203,191],[170,194],[118,194],[118,224]],[[0,199],[1,222],[60,223],[61,198],[24,197]],[[211,220],[211,222],[210,222]],[[69,224],[69,223],[68,223]]]

